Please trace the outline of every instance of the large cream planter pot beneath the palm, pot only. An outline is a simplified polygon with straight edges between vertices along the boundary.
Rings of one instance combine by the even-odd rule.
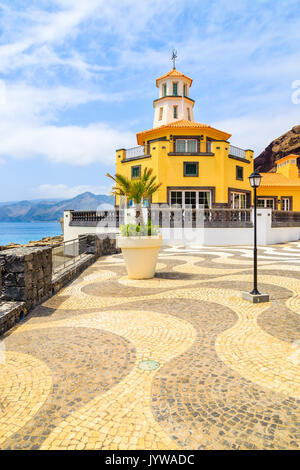
[[[154,277],[161,244],[161,235],[117,237],[117,247],[122,250],[129,279],[151,279]]]

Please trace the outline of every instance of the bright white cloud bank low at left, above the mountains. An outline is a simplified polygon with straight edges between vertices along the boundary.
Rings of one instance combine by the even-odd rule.
[[[135,145],[131,132],[96,122],[88,126],[56,125],[60,111],[92,101],[123,99],[80,89],[37,89],[24,83],[6,87],[0,105],[0,158],[47,157],[53,162],[88,165],[114,163],[118,147]]]

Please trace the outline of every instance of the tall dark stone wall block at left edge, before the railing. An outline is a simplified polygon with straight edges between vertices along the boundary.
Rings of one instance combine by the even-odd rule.
[[[2,300],[25,302],[27,309],[52,294],[52,249],[12,248],[0,252]]]

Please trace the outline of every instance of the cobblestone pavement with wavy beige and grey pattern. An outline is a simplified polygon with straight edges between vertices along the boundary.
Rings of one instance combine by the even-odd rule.
[[[300,447],[300,243],[99,259],[0,343],[1,449]]]

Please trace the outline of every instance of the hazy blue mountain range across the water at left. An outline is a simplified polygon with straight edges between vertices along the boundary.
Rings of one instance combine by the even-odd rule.
[[[82,193],[73,199],[20,201],[0,204],[0,222],[59,221],[65,209],[96,210],[101,204],[114,205],[114,198],[105,194]]]

